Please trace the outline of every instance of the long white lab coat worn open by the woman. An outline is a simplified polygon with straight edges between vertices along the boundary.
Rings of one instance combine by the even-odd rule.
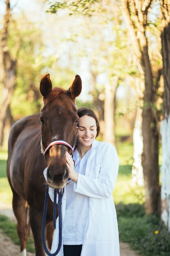
[[[74,191],[89,197],[89,213],[84,230],[81,256],[119,256],[119,233],[112,192],[117,179],[119,160],[115,148],[93,141],[85,175],[79,174]],[[44,170],[46,177],[46,169]],[[53,189],[49,189],[53,200]],[[66,186],[62,198],[62,220],[66,211]],[[58,246],[58,221],[51,253]],[[63,247],[62,247],[63,248]],[[58,256],[63,256],[61,248]]]

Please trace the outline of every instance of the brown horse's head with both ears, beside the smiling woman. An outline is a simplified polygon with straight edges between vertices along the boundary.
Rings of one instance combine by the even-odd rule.
[[[47,161],[47,182],[53,188],[63,188],[68,180],[66,166],[66,151],[71,148],[63,144],[52,144],[53,141],[66,141],[72,147],[76,141],[78,123],[75,98],[82,90],[82,80],[76,75],[68,90],[53,88],[49,74],[42,77],[40,92],[43,96],[44,107],[41,110],[41,148],[45,151]]]

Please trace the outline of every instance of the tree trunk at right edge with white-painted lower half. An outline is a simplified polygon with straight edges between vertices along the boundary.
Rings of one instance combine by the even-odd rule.
[[[162,135],[162,166],[161,166],[161,219],[170,231],[170,23],[161,35],[163,58],[163,110],[161,122]]]

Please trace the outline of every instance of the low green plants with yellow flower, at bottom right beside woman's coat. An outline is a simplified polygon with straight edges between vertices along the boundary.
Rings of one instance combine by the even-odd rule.
[[[117,204],[120,240],[143,256],[169,256],[170,234],[157,215],[145,216],[144,205]]]

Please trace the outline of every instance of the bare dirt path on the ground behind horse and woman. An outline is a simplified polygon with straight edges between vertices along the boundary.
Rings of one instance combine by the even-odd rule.
[[[11,209],[0,209],[0,214],[6,215],[11,220],[15,220],[15,216],[13,215],[13,211]],[[0,256],[19,256],[20,255],[20,247],[18,245],[14,245],[10,238],[4,236],[2,230],[0,230]],[[120,256],[138,256],[137,252],[132,251],[128,243],[120,242]],[[27,252],[27,256],[35,256],[35,254],[31,254]]]

